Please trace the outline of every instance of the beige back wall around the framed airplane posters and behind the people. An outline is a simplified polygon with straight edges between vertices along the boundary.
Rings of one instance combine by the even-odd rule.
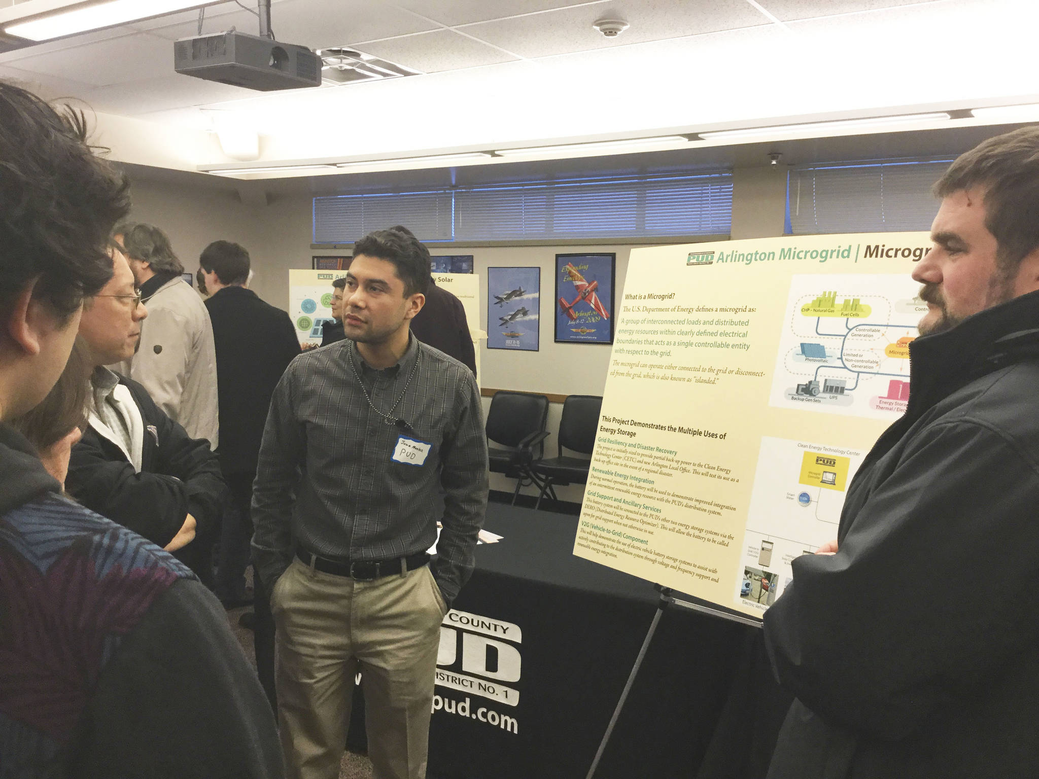
[[[784,166],[742,168],[734,171],[732,238],[782,235],[785,219],[787,169]],[[288,310],[288,271],[310,268],[312,254],[338,251],[311,249],[310,197],[274,199],[267,206],[246,206],[234,193],[170,185],[144,179],[133,183],[132,218],[165,230],[186,270],[198,267],[198,254],[210,241],[223,239],[245,246],[252,259],[252,289],[263,299]],[[610,362],[610,347],[596,344],[557,344],[554,341],[556,253],[615,252],[616,297],[621,299],[629,256],[638,244],[589,246],[484,246],[438,247],[434,254],[473,254],[480,274],[481,296],[486,296],[488,267],[536,266],[541,269],[540,350],[505,351],[481,346],[480,385],[503,390],[560,395],[602,395]],[[487,329],[484,303],[480,327]],[[616,307],[616,303],[614,305]],[[491,322],[491,326],[495,326]],[[489,399],[484,399],[484,411]],[[562,406],[552,404],[547,441],[548,456],[555,456]],[[514,482],[491,475],[491,488],[511,491]],[[526,489],[525,493],[534,490]],[[562,500],[580,501],[580,486],[558,490]]]

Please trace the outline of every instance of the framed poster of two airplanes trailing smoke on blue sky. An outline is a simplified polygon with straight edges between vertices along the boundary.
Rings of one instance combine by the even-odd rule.
[[[487,348],[538,350],[540,268],[487,268]]]

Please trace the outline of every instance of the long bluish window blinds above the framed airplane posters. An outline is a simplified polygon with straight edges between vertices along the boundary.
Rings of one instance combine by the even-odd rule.
[[[423,241],[728,235],[732,174],[630,177],[314,198],[314,242],[404,224]]]

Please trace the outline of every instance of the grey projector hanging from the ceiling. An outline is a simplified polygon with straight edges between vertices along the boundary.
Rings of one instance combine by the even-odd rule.
[[[237,30],[175,42],[174,70],[261,91],[321,86],[321,58],[305,46]]]

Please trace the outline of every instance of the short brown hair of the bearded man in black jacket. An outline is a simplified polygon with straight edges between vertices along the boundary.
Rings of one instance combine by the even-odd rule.
[[[934,194],[973,187],[985,190],[985,226],[995,237],[1000,268],[1013,272],[1039,247],[1039,126],[997,135],[960,155]]]

